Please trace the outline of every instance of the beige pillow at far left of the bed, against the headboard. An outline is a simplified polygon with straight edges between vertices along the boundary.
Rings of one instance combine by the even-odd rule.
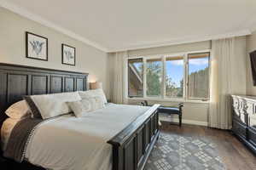
[[[24,99],[9,106],[9,108],[5,111],[5,114],[13,119],[22,119],[31,116],[29,108]]]

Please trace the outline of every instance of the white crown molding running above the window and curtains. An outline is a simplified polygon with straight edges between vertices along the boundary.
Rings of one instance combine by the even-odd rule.
[[[229,37],[241,37],[241,36],[247,36],[250,34],[252,34],[252,32],[249,29],[246,29],[241,31],[228,32],[228,33],[217,34],[217,35],[207,35],[202,37],[183,37],[183,38],[172,39],[170,41],[167,40],[167,41],[160,41],[160,42],[137,43],[124,48],[110,48],[108,53],[114,53],[114,52],[120,52],[120,51],[126,51],[126,50],[135,50],[135,49],[141,49],[141,48],[158,48],[158,47],[164,47],[164,46],[179,45],[183,43],[203,42],[203,41],[210,41],[210,40],[229,38]]]

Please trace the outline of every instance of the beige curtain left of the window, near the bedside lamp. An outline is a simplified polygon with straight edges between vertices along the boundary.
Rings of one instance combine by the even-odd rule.
[[[127,104],[125,71],[127,71],[126,58],[127,52],[117,52],[113,54],[113,82],[111,83],[112,95],[111,102],[116,104]]]

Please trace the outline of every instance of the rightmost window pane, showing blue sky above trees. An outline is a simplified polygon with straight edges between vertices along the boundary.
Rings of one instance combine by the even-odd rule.
[[[189,54],[189,99],[209,98],[209,53]]]

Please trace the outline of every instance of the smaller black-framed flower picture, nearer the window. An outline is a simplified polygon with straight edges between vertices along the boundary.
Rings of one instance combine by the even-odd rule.
[[[76,65],[76,48],[62,43],[61,55],[63,65]]]

